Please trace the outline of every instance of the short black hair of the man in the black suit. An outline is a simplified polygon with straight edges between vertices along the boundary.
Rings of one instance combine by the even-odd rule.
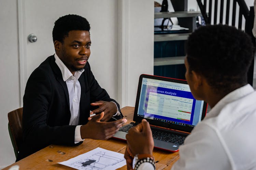
[[[79,15],[69,14],[62,16],[54,23],[53,42],[57,40],[63,43],[63,39],[72,30],[90,31],[90,24],[87,19]]]

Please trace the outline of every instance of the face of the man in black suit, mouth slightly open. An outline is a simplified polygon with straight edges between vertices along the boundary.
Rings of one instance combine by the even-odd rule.
[[[91,39],[89,31],[73,30],[59,44],[56,50],[60,60],[72,74],[84,68],[90,56]],[[55,48],[56,49],[56,48]]]

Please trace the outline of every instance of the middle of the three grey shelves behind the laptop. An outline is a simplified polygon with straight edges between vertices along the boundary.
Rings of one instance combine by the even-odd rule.
[[[154,41],[176,41],[176,40],[187,40],[191,33],[180,33],[180,34],[157,34],[154,35]]]

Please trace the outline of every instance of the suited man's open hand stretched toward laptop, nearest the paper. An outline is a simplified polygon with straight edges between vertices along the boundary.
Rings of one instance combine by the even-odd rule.
[[[80,128],[81,138],[101,140],[111,138],[127,122],[126,119],[119,119],[113,122],[100,122],[103,117],[104,112],[101,112],[101,114],[92,117],[87,124],[82,125]]]

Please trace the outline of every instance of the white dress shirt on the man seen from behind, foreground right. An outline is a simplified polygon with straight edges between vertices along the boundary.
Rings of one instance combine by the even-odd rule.
[[[256,91],[247,84],[221,99],[198,123],[180,146],[172,170],[256,170],[255,131]]]

